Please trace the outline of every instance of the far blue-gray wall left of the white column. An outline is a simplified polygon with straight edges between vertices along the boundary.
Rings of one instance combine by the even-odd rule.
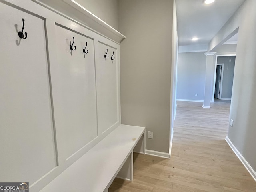
[[[179,53],[177,99],[204,100],[205,66],[204,52]]]

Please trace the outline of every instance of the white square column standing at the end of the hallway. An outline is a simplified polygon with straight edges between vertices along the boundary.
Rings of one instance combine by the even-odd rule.
[[[204,85],[204,104],[203,108],[210,108],[214,80],[214,54],[216,52],[206,52],[206,69]]]

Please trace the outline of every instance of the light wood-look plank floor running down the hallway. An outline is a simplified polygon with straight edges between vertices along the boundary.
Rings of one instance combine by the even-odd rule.
[[[225,141],[229,110],[229,102],[178,102],[171,159],[134,153],[133,182],[116,178],[109,192],[256,192]]]

